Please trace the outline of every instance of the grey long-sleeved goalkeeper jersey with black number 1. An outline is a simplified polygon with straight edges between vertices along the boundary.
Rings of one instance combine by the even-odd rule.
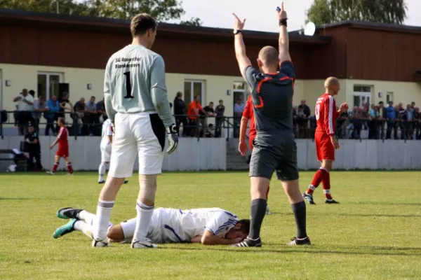
[[[112,123],[116,113],[142,112],[158,113],[166,127],[174,123],[163,59],[142,45],[127,45],[109,58],[104,96]]]

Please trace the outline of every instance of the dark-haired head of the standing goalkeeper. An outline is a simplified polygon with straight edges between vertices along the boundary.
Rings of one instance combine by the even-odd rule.
[[[145,45],[146,48],[152,48],[156,36],[156,20],[147,13],[135,15],[131,20],[130,31],[133,41]]]

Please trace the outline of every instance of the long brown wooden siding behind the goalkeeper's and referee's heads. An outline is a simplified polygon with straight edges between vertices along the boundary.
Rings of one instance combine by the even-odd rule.
[[[0,62],[43,66],[104,69],[109,56],[131,41],[130,35],[99,31],[1,26]],[[262,44],[246,41],[255,64]],[[274,40],[276,46],[276,39]],[[302,49],[292,47],[297,78],[304,78]],[[204,41],[157,37],[154,51],[161,54],[168,73],[239,76],[233,41]]]

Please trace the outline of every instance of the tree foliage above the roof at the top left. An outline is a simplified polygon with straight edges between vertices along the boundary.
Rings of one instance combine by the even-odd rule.
[[[57,8],[58,3],[58,8]],[[1,8],[31,10],[65,15],[129,20],[138,13],[149,13],[159,22],[180,20],[185,14],[179,0],[0,0]],[[185,25],[201,25],[199,18],[192,18]]]

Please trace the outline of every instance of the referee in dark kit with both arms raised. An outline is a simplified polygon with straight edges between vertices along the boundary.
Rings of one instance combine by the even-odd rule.
[[[293,208],[297,236],[288,245],[307,245],[305,202],[298,186],[297,145],[293,134],[293,93],[295,71],[290,61],[287,17],[278,11],[279,52],[272,46],[262,48],[258,56],[260,71],[251,66],[246,56],[241,31],[246,20],[235,14],[234,44],[241,75],[253,88],[253,111],[257,135],[250,160],[250,234],[234,244],[239,247],[260,247],[260,227],[267,207],[267,189],[273,172],[282,182]],[[276,69],[280,67],[279,72]]]

